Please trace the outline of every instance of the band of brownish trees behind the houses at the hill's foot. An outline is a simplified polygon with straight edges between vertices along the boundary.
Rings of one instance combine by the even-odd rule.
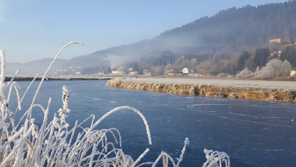
[[[274,51],[274,46],[270,46]],[[220,73],[238,74],[244,69],[256,71],[266,64],[278,59],[288,61],[292,67],[296,66],[296,45],[280,48],[280,54],[271,54],[269,47],[257,48],[256,50],[242,50],[236,56],[228,56],[226,53],[207,52],[205,54],[191,53],[187,55],[164,54],[162,57],[145,58],[139,62],[141,69],[150,71],[152,74],[165,74],[167,70],[180,71],[184,67],[197,69],[199,74],[218,75]],[[144,72],[145,73],[145,72]]]

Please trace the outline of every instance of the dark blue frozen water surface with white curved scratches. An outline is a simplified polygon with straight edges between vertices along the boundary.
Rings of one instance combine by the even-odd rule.
[[[231,81],[231,80],[229,80]],[[206,161],[203,149],[226,152],[231,166],[293,166],[296,157],[296,104],[206,98],[128,90],[105,86],[107,81],[46,81],[36,103],[47,105],[52,97],[50,118],[62,108],[62,85],[70,92],[67,122],[73,126],[96,115],[96,119],[118,106],[132,106],[146,117],[152,146],[148,144],[145,126],[134,112],[120,111],[107,117],[97,128],[118,128],[122,136],[122,149],[133,159],[146,149],[143,159],[152,161],[161,151],[174,159],[179,157],[184,140],[190,143],[181,166],[202,166]],[[18,82],[22,95],[28,81]],[[35,82],[23,110],[27,109],[39,82]],[[16,108],[16,101],[11,101]],[[16,118],[21,116],[16,114]],[[33,117],[41,123],[43,114],[37,108]],[[90,122],[87,122],[86,127]],[[119,144],[116,145],[119,147]]]

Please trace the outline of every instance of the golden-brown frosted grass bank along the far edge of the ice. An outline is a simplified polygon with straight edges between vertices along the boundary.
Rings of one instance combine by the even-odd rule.
[[[180,83],[136,83],[120,79],[111,79],[107,86],[148,90],[181,95],[203,95],[207,97],[243,98],[266,101],[295,101],[296,90],[235,87],[225,85],[180,84]]]

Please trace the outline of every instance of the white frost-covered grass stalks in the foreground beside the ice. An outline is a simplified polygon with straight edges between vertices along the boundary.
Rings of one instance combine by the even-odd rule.
[[[54,114],[52,120],[48,119],[49,107],[51,98],[47,106],[36,104],[39,90],[42,86],[49,69],[62,53],[62,51],[72,45],[81,44],[80,42],[70,42],[65,45],[56,55],[52,63],[42,76],[41,82],[33,97],[32,103],[28,110],[22,110],[22,101],[26,98],[26,93],[29,91],[31,84],[28,86],[25,93],[20,96],[20,89],[17,82],[4,82],[5,79],[5,54],[4,50],[0,51],[1,55],[1,74],[0,74],[0,167],[7,166],[156,166],[158,163],[163,166],[180,166],[183,160],[186,146],[189,144],[189,139],[184,141],[184,147],[180,152],[180,157],[173,159],[166,152],[161,152],[154,162],[141,163],[141,159],[149,152],[149,148],[143,150],[143,153],[138,158],[133,159],[125,154],[122,149],[116,148],[110,142],[110,135],[116,143],[121,147],[120,132],[116,128],[101,129],[97,127],[99,123],[114,112],[120,110],[130,110],[137,113],[144,122],[147,131],[148,142],[152,144],[152,138],[149,130],[149,125],[144,115],[137,109],[129,106],[121,106],[107,112],[104,116],[97,119],[95,115],[90,115],[81,123],[75,122],[73,127],[67,123],[66,119],[71,112],[68,108],[69,94],[67,87],[62,87],[62,102],[63,106]],[[85,45],[83,45],[85,46]],[[36,78],[35,77],[35,78]],[[9,100],[11,98],[12,89],[15,89],[17,94],[18,106],[15,112],[10,111]],[[8,96],[4,92],[8,91]],[[38,107],[44,114],[43,123],[41,126],[35,124],[32,110]],[[16,114],[22,115],[21,119],[16,122],[14,117]],[[89,127],[83,127],[82,124],[87,120],[91,120]],[[82,130],[82,131],[81,131]],[[79,132],[79,133],[78,133]],[[77,134],[78,133],[78,134]],[[110,134],[110,135],[107,135]],[[107,138],[108,136],[108,138]],[[213,152],[212,150],[204,150],[207,161],[203,167],[223,166],[229,167],[229,156],[224,152]],[[162,160],[162,162],[160,162]],[[200,166],[197,164],[197,166]]]

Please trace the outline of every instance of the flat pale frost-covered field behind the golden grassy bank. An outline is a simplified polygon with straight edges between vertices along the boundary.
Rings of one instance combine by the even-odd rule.
[[[296,82],[292,81],[258,81],[258,80],[228,80],[228,79],[181,79],[181,78],[128,78],[126,82],[133,83],[163,83],[163,84],[205,84],[234,87],[252,87],[268,89],[296,90]]]

